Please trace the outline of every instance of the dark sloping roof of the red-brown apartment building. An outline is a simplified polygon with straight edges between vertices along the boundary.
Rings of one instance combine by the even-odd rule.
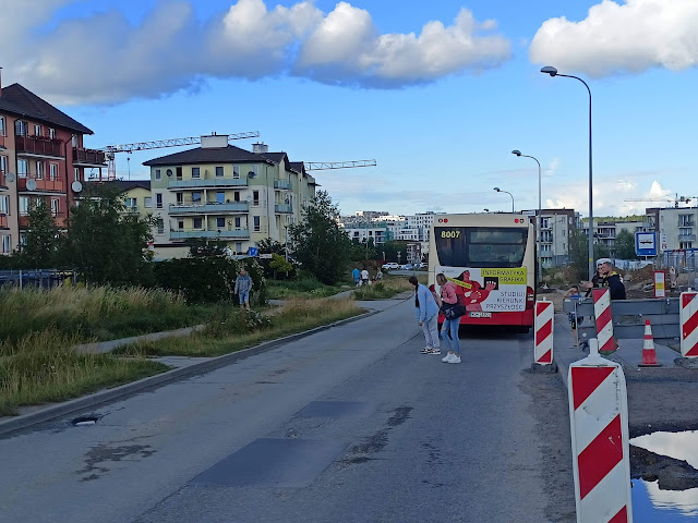
[[[31,118],[57,127],[65,127],[82,134],[95,134],[82,123],[73,120],[63,111],[56,109],[48,101],[39,98],[20,84],[2,87],[0,92],[0,110]]]

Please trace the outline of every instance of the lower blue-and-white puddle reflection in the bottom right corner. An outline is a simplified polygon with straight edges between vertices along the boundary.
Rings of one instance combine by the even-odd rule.
[[[698,516],[698,488],[660,490],[657,482],[633,479],[634,523],[684,523]]]

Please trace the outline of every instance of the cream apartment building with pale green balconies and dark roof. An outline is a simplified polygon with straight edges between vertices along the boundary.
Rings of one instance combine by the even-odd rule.
[[[227,135],[202,136],[201,147],[143,163],[151,168],[156,258],[185,256],[188,241],[220,240],[233,254],[257,242],[288,239],[288,226],[315,196],[315,180],[286,153],[253,151]]]

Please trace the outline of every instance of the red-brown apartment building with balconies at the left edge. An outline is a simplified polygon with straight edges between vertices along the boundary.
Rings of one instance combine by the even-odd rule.
[[[39,199],[60,228],[82,191],[86,168],[106,168],[105,154],[83,147],[94,134],[20,84],[0,77],[0,253],[23,242],[28,214]]]

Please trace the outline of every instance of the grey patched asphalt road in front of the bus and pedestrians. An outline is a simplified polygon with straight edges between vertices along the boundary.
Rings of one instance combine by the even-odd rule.
[[[411,301],[0,440],[1,522],[574,522],[532,339],[421,355]]]

